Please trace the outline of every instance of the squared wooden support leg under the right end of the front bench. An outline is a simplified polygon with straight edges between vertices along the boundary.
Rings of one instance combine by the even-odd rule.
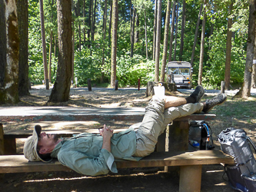
[[[201,167],[202,165],[181,166],[180,192],[201,190]]]

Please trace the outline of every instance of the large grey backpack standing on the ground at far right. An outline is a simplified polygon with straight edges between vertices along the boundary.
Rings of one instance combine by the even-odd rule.
[[[234,190],[256,191],[256,161],[251,146],[256,147],[242,129],[227,128],[218,134],[221,150],[234,157],[235,164],[225,164],[228,182]]]

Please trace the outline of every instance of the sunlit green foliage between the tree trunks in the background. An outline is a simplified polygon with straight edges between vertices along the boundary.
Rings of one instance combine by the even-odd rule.
[[[107,8],[107,28],[106,36],[103,38],[103,10],[105,6],[104,0],[97,1],[96,19],[95,19],[95,35],[94,41],[88,38],[88,30],[91,23],[88,20],[89,1],[85,1],[85,10],[83,10],[82,1],[75,0],[73,2],[72,18],[74,21],[74,77],[78,78],[78,85],[85,86],[87,79],[91,78],[94,84],[109,83],[111,76],[111,42],[108,40],[108,29],[110,22],[110,4]],[[29,1],[28,8],[28,64],[29,78],[34,83],[42,83],[44,79],[44,68],[42,62],[42,41],[41,41],[41,25],[38,1]],[[136,7],[138,12],[139,26],[135,27],[138,31],[138,42],[135,43],[134,57],[130,58],[131,51],[131,14],[130,3]],[[191,48],[194,43],[194,31],[198,19],[198,12],[201,6],[201,0],[186,1],[186,23],[184,34],[184,49],[182,54],[183,61],[191,61]],[[246,39],[248,31],[248,1],[234,1],[233,12],[228,15],[228,5],[231,0],[217,0],[209,2],[207,9],[207,22],[205,30],[204,42],[204,70],[203,84],[208,88],[218,88],[221,81],[224,81],[225,69],[225,51],[226,51],[226,34],[227,34],[227,18],[233,18],[234,25],[231,30],[234,32],[231,50],[231,84],[241,83],[244,78],[244,65],[246,59]],[[79,5],[78,5],[79,4]],[[162,2],[163,23],[161,25],[161,46],[160,46],[160,66],[161,55],[163,51],[163,35],[165,31],[165,8],[167,1]],[[78,6],[80,8],[78,8]],[[172,5],[171,5],[172,7]],[[172,61],[179,59],[180,42],[181,42],[181,12],[182,3],[179,2],[179,17],[176,45],[176,58],[174,58],[175,46],[172,50]],[[44,1],[45,9],[45,32],[46,32],[46,48],[47,53],[50,47],[50,32],[58,35],[57,30],[57,10],[56,3],[52,5],[52,1]],[[80,12],[78,11],[80,10]],[[83,17],[85,13],[85,18]],[[155,17],[154,1],[141,0],[122,0],[118,1],[118,41],[117,41],[117,80],[120,86],[138,84],[138,78],[141,79],[141,85],[147,84],[147,81],[155,79],[155,61],[146,61],[145,50],[145,14],[147,22],[147,38],[148,38],[148,58],[152,58],[153,47],[153,29]],[[171,13],[173,14],[173,13]],[[80,25],[80,29],[79,29]],[[84,30],[85,29],[85,30]],[[80,30],[80,31],[79,31]],[[85,34],[84,34],[85,32]],[[174,34],[176,35],[176,34]],[[81,39],[80,39],[81,37]],[[79,50],[81,43],[81,50]],[[175,45],[175,38],[172,42]],[[194,74],[193,84],[197,84],[198,65],[200,57],[201,44],[201,25],[198,31],[197,44],[194,55]],[[90,45],[90,46],[89,46]],[[52,48],[54,51],[54,48]],[[57,50],[58,52],[58,50]],[[49,55],[47,54],[47,57]],[[104,59],[104,64],[102,61]],[[48,58],[49,60],[49,58]],[[58,65],[58,57],[52,54],[52,82],[55,81]],[[160,71],[159,71],[160,74]]]

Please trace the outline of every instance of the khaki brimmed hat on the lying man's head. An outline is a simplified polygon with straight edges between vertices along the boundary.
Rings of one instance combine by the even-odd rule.
[[[41,134],[42,127],[40,125],[35,125],[32,136],[28,137],[24,144],[24,155],[29,161],[52,161],[52,159],[43,159],[38,154],[38,135]]]

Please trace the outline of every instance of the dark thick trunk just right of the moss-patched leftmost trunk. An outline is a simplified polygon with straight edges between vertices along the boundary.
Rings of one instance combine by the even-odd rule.
[[[18,8],[18,95],[29,95],[28,81],[28,0],[17,1]]]

